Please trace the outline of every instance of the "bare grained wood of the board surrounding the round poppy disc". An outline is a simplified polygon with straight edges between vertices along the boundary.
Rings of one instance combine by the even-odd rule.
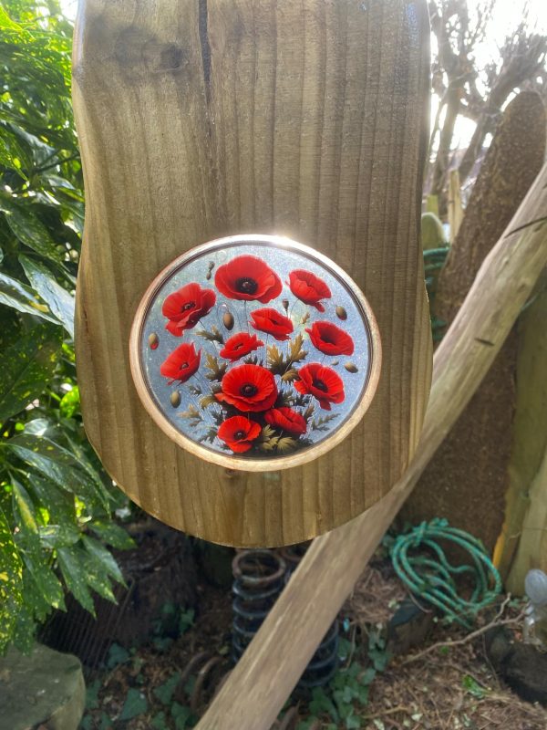
[[[404,472],[430,382],[418,245],[428,70],[425,0],[81,0],[78,381],[91,443],[154,516],[219,543],[294,543],[358,515]],[[242,233],[331,257],[365,292],[382,339],[363,422],[284,473],[185,453],[129,375],[151,279],[192,246]]]

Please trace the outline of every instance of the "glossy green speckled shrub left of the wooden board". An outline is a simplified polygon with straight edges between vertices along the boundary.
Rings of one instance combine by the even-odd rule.
[[[84,220],[57,0],[0,3],[0,652],[32,645],[71,591],[113,600],[120,495],[89,447],[74,365]]]

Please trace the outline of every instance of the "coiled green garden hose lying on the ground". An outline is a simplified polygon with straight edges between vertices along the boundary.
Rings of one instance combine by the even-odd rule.
[[[469,553],[471,564],[451,565],[439,541],[463,548]],[[397,576],[412,593],[466,629],[471,628],[477,613],[501,591],[500,573],[480,540],[468,532],[449,527],[446,519],[436,517],[399,535],[391,547],[391,559]],[[455,578],[461,576],[470,579],[469,599],[464,599],[458,591]]]

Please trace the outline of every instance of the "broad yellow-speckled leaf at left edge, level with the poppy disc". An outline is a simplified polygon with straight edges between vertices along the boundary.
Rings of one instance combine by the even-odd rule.
[[[0,421],[23,411],[45,390],[61,358],[60,330],[38,325],[0,353]]]

